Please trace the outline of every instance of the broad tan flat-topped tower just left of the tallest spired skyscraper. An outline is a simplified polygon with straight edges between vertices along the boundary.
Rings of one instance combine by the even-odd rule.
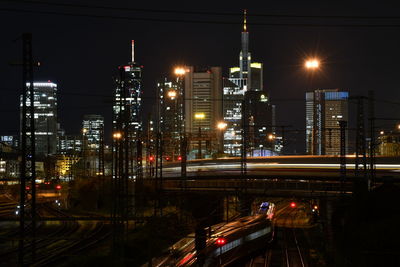
[[[185,131],[190,134],[192,152],[189,157],[209,157],[222,142],[217,129],[223,119],[221,67],[188,67],[184,86]]]

